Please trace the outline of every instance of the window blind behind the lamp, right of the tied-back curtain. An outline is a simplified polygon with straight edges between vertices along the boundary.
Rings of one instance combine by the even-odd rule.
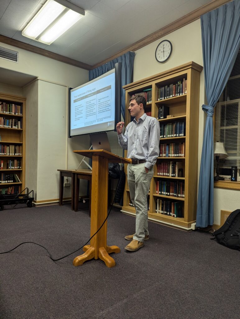
[[[214,142],[223,142],[228,154],[220,166],[240,168],[240,51],[220,99],[215,106]]]

